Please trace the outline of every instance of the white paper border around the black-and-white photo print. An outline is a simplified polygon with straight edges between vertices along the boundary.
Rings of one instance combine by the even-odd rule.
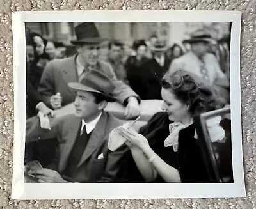
[[[230,88],[234,183],[24,183],[26,126],[25,22],[231,22]],[[13,199],[142,199],[244,197],[238,11],[36,11],[14,12]],[[191,171],[193,172],[193,171]]]

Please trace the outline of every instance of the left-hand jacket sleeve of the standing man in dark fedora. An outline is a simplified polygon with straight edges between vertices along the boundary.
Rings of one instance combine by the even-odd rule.
[[[38,86],[38,92],[42,96],[44,104],[51,107],[51,96],[56,94],[54,85],[54,67],[52,66],[52,61],[44,68],[44,72]]]

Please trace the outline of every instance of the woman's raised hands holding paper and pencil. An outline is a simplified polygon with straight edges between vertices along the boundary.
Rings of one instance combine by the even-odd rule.
[[[134,130],[122,129],[120,133],[122,136],[127,139],[127,146],[132,148],[134,146],[140,148],[140,150],[146,150],[149,147],[148,140],[141,134],[138,134]]]

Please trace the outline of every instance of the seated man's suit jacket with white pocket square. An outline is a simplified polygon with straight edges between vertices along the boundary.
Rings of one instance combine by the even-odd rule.
[[[109,132],[121,124],[121,121],[111,114],[102,112],[99,122],[90,135],[77,166],[76,177],[71,180],[72,182],[113,182],[119,178],[120,166],[128,148],[124,145],[116,151],[108,150],[108,137]],[[51,130],[45,130],[40,128],[38,118],[30,118],[26,121],[26,142],[57,137],[59,141],[58,172],[63,174],[80,125],[81,118],[70,115],[65,118],[52,118]],[[98,159],[101,153],[104,158]]]

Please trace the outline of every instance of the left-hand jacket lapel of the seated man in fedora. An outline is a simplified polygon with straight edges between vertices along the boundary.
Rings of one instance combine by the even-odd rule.
[[[81,118],[73,118],[67,123],[67,126],[63,126],[63,128],[68,128],[67,130],[63,130],[63,138],[66,139],[64,148],[61,150],[60,153],[60,171],[63,171],[65,167],[67,166],[67,160],[70,155],[70,152],[74,146],[74,143],[76,141],[77,133],[81,125]]]

